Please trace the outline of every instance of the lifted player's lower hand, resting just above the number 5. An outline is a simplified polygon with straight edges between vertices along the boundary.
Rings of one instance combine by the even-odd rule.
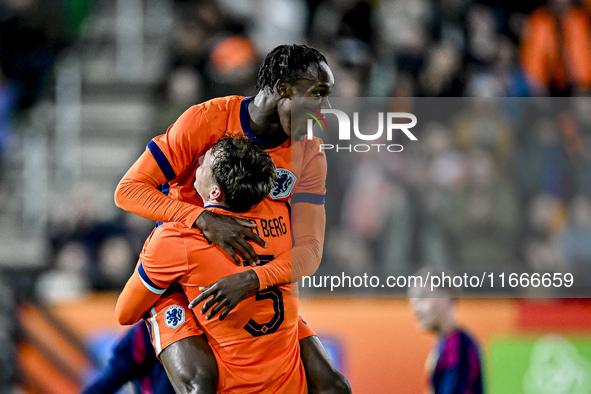
[[[224,276],[209,286],[200,287],[199,290],[203,293],[191,301],[189,308],[195,308],[212,296],[201,307],[201,314],[205,315],[209,311],[205,316],[205,319],[209,320],[222,311],[220,320],[224,320],[236,305],[248,297],[252,291],[258,290],[259,287],[259,278],[253,270]]]

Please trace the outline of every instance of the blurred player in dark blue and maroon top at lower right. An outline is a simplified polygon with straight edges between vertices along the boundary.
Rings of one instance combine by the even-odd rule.
[[[429,275],[427,275],[429,273]],[[443,277],[444,272],[424,268],[415,276],[423,282],[429,277]],[[452,276],[451,272],[445,272]],[[437,335],[437,344],[427,360],[429,392],[434,394],[481,394],[482,366],[478,343],[458,325],[456,302],[459,289],[443,282],[431,290],[431,283],[411,287],[409,298],[415,316],[425,330]]]

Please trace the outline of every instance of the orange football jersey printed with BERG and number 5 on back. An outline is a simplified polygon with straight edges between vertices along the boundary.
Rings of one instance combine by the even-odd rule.
[[[289,216],[281,204],[259,204],[244,214],[255,221],[266,249],[255,246],[263,262],[291,247]],[[215,212],[224,212],[214,208]],[[179,283],[189,299],[221,277],[250,269],[237,266],[201,230],[182,223],[165,223],[154,230],[140,256],[140,264],[125,286],[118,313],[143,313],[173,283]],[[141,282],[141,285],[138,283]],[[187,316],[172,305],[161,310],[165,324],[177,327]],[[220,321],[196,314],[212,347],[219,370],[219,390],[224,393],[306,393],[306,377],[299,354],[298,301],[291,285],[272,286],[253,293]],[[192,317],[191,317],[192,318]],[[151,320],[151,319],[150,319]],[[158,327],[151,327],[157,330]]]

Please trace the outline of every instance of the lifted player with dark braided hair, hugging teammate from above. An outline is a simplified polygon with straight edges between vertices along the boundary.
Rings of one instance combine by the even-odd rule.
[[[285,203],[290,202],[293,216],[305,220],[293,223],[294,244],[290,251],[276,256],[269,264],[222,278],[209,287],[205,296],[213,294],[214,298],[203,311],[215,307],[208,317],[222,308],[224,317],[253,289],[295,282],[316,271],[324,241],[326,158],[318,149],[320,140],[295,143],[289,138],[291,100],[312,97],[319,108],[326,108],[333,85],[332,72],[318,51],[305,45],[277,47],[261,65],[256,96],[229,96],[189,108],[166,134],[148,144],[146,152],[119,183],[115,193],[119,207],[149,219],[197,227],[237,263],[240,261],[234,250],[253,263],[258,256],[247,238],[264,244],[244,228],[253,228],[253,224],[204,211],[203,202],[192,187],[194,173],[197,158],[226,132],[246,136],[273,158],[280,177],[271,192],[273,201],[268,199],[268,203],[283,205],[287,217]],[[183,293],[171,292],[151,308],[150,319],[158,322],[170,306],[186,308],[187,303]],[[160,326],[165,327],[164,320],[161,322]],[[161,332],[155,348],[161,347],[160,358],[175,386],[211,386],[209,346],[199,340],[198,327],[188,327],[183,324]],[[298,333],[310,392],[350,392],[347,380],[336,371],[318,338],[302,321]]]

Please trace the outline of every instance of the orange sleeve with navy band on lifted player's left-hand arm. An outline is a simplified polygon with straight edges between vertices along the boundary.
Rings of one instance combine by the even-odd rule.
[[[241,131],[242,99],[214,99],[185,111],[166,134],[148,144],[119,182],[117,206],[151,220],[192,226],[203,212],[203,202],[192,187],[197,160],[226,133]],[[168,194],[157,189],[163,184]]]

